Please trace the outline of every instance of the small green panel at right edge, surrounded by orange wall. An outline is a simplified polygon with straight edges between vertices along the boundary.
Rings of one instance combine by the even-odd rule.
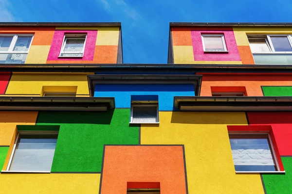
[[[292,96],[292,86],[262,86],[265,97]]]

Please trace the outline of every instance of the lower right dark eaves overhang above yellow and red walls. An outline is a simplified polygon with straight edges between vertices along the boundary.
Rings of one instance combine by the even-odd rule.
[[[292,97],[174,97],[180,111],[292,111]]]

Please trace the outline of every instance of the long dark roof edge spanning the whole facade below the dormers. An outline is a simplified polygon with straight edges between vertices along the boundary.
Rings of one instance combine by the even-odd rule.
[[[222,64],[0,64],[0,72],[103,72],[161,69],[202,73],[292,73],[292,65]]]

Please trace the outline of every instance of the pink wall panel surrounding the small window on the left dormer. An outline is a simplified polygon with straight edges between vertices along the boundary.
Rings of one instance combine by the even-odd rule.
[[[87,33],[84,55],[82,58],[58,57],[63,44],[65,33]],[[47,61],[92,61],[94,56],[97,31],[58,31],[54,33],[52,45],[49,51]]]

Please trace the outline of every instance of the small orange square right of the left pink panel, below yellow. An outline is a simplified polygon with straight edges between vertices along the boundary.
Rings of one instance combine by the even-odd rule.
[[[93,61],[98,64],[116,64],[118,46],[95,46]]]

